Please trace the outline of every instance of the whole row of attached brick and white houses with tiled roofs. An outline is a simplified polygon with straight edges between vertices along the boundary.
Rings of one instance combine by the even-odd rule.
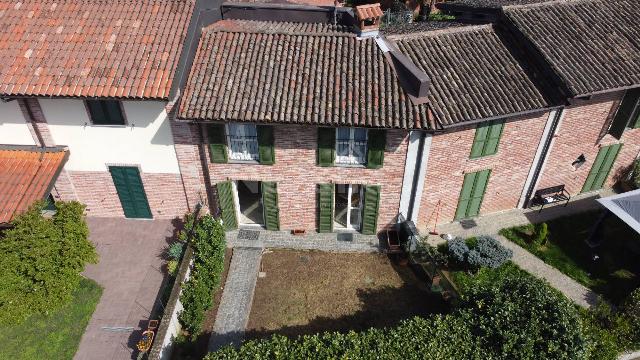
[[[11,135],[0,143],[68,145],[53,195],[89,215],[173,217],[200,203],[228,228],[375,234],[399,214],[424,227],[435,213],[526,208],[543,188],[575,195],[627,176],[640,152],[633,1],[462,2],[491,16],[377,31],[360,18],[376,11],[341,9],[334,22],[279,6],[282,22],[116,1],[109,19],[87,9],[49,26],[49,38],[75,39],[86,19],[100,24],[78,39],[99,44],[95,59],[50,69],[27,9],[64,7],[5,1],[0,22],[34,25],[0,49],[14,64],[2,68]],[[135,20],[134,6],[157,15]],[[118,39],[143,56],[113,55]]]

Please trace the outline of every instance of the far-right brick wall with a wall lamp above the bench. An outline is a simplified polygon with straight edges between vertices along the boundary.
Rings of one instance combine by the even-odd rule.
[[[537,188],[564,184],[571,194],[578,194],[591,170],[600,147],[622,143],[618,158],[605,187],[611,187],[631,165],[640,151],[640,129],[628,129],[620,140],[606,134],[618,108],[622,93],[600,95],[578,101],[564,110],[564,118],[553,140]],[[571,165],[581,154],[586,157],[578,169]]]

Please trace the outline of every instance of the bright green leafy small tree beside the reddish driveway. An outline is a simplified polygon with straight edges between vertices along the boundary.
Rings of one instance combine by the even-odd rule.
[[[47,314],[71,300],[86,263],[96,263],[87,239],[84,205],[56,203],[56,214],[45,219],[38,203],[12,222],[0,239],[0,323],[21,322]]]

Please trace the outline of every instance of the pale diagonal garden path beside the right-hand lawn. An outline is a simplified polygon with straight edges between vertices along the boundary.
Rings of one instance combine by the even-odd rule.
[[[493,236],[500,241],[504,247],[513,251],[513,258],[511,261],[516,263],[522,269],[528,271],[534,276],[547,280],[551,286],[560,290],[560,292],[562,292],[566,297],[582,307],[590,308],[596,305],[598,301],[598,294],[561,273],[553,266],[546,264],[535,255],[531,254],[514,242],[507,240],[505,237],[501,235]]]

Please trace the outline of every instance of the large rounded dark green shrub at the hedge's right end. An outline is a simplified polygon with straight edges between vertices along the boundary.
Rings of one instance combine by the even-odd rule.
[[[583,359],[588,354],[578,312],[560,292],[532,276],[505,274],[472,285],[459,313],[487,358]]]

